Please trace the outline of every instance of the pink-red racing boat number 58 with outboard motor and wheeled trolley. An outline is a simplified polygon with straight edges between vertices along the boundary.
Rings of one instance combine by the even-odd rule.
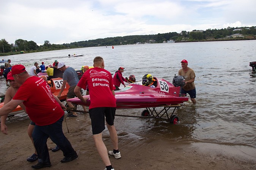
[[[173,84],[164,79],[155,77],[154,79],[157,80],[155,88],[143,86],[142,82],[138,81],[129,84],[124,89],[115,91],[116,109],[146,108],[141,114],[143,117],[162,118],[166,114],[166,120],[175,124],[175,122],[179,121],[178,117],[173,114],[175,109],[179,108],[183,102],[188,101],[187,97],[180,97],[180,88],[185,85],[184,77],[174,76]],[[90,95],[83,97],[88,98],[86,103],[83,103],[79,98],[71,98],[68,101],[74,104],[89,106]],[[163,107],[163,110],[157,112],[155,110],[156,107]],[[170,108],[174,108],[174,111],[169,116],[167,111]]]

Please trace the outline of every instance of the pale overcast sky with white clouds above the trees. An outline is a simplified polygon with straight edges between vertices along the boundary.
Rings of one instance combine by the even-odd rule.
[[[1,0],[0,39],[90,39],[256,26],[256,0]]]

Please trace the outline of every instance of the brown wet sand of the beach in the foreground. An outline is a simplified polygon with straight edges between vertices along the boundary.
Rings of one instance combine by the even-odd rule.
[[[118,113],[119,111],[117,111]],[[118,118],[116,118],[118,119]],[[137,118],[134,118],[137,119]],[[63,131],[79,157],[74,161],[61,163],[62,152],[49,151],[52,167],[49,170],[95,169],[105,168],[92,139],[90,117],[67,117],[63,122]],[[121,159],[110,157],[115,170],[255,170],[256,149],[241,145],[217,145],[201,142],[170,142],[160,139],[148,139],[122,129],[123,121],[116,121]],[[27,135],[30,120],[14,120],[7,123],[8,135],[0,134],[0,167],[2,170],[30,170],[36,162],[26,159],[33,153],[31,141]],[[123,122],[124,123],[124,122]],[[108,131],[103,132],[103,139],[108,150],[112,143]],[[55,144],[49,139],[49,150]]]

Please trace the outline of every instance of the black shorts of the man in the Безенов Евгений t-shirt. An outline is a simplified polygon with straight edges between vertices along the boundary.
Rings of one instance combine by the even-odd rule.
[[[116,108],[102,107],[89,109],[91,118],[91,127],[93,134],[102,133],[105,129],[105,117],[108,125],[114,125],[114,119],[116,114]]]

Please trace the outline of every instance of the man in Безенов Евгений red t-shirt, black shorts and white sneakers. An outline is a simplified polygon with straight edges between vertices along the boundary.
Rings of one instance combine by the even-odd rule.
[[[93,60],[94,68],[87,70],[77,86],[75,87],[75,94],[77,97],[86,103],[87,98],[83,98],[80,90],[90,89],[90,106],[89,114],[91,118],[91,126],[93,130],[93,139],[97,151],[99,152],[106,169],[114,170],[108,154],[115,156],[116,159],[121,158],[118,150],[118,138],[116,128],[114,126],[115,112],[116,112],[116,98],[113,86],[112,75],[104,69],[104,60],[97,56]],[[102,131],[105,129],[105,117],[110,138],[113,143],[113,151],[108,151],[102,140]]]

